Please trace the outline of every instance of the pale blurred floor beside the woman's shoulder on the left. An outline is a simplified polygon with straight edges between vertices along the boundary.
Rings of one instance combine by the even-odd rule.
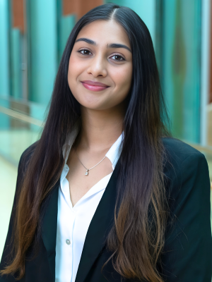
[[[40,128],[36,126],[28,130],[0,130],[0,258],[16,190],[18,161],[23,151],[38,139],[39,133]]]

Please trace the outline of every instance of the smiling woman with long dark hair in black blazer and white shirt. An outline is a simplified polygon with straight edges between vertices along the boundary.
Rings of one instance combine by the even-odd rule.
[[[1,282],[211,282],[208,166],[165,113],[141,18],[105,4],[78,20],[20,158]]]

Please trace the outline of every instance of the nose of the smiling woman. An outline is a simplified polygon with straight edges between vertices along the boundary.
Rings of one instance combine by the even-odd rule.
[[[92,74],[95,78],[98,76],[105,77],[107,75],[106,62],[101,54],[96,55],[93,59],[89,60],[88,73]]]

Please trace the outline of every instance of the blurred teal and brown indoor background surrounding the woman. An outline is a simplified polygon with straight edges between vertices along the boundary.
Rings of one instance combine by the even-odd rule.
[[[175,137],[205,154],[212,181],[211,0],[0,0],[0,257],[22,152],[42,132],[66,40],[113,2],[146,23]]]

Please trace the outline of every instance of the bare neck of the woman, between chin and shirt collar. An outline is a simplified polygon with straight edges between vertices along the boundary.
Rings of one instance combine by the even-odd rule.
[[[78,146],[88,151],[109,149],[122,134],[125,107],[93,110],[81,106],[81,137]]]

